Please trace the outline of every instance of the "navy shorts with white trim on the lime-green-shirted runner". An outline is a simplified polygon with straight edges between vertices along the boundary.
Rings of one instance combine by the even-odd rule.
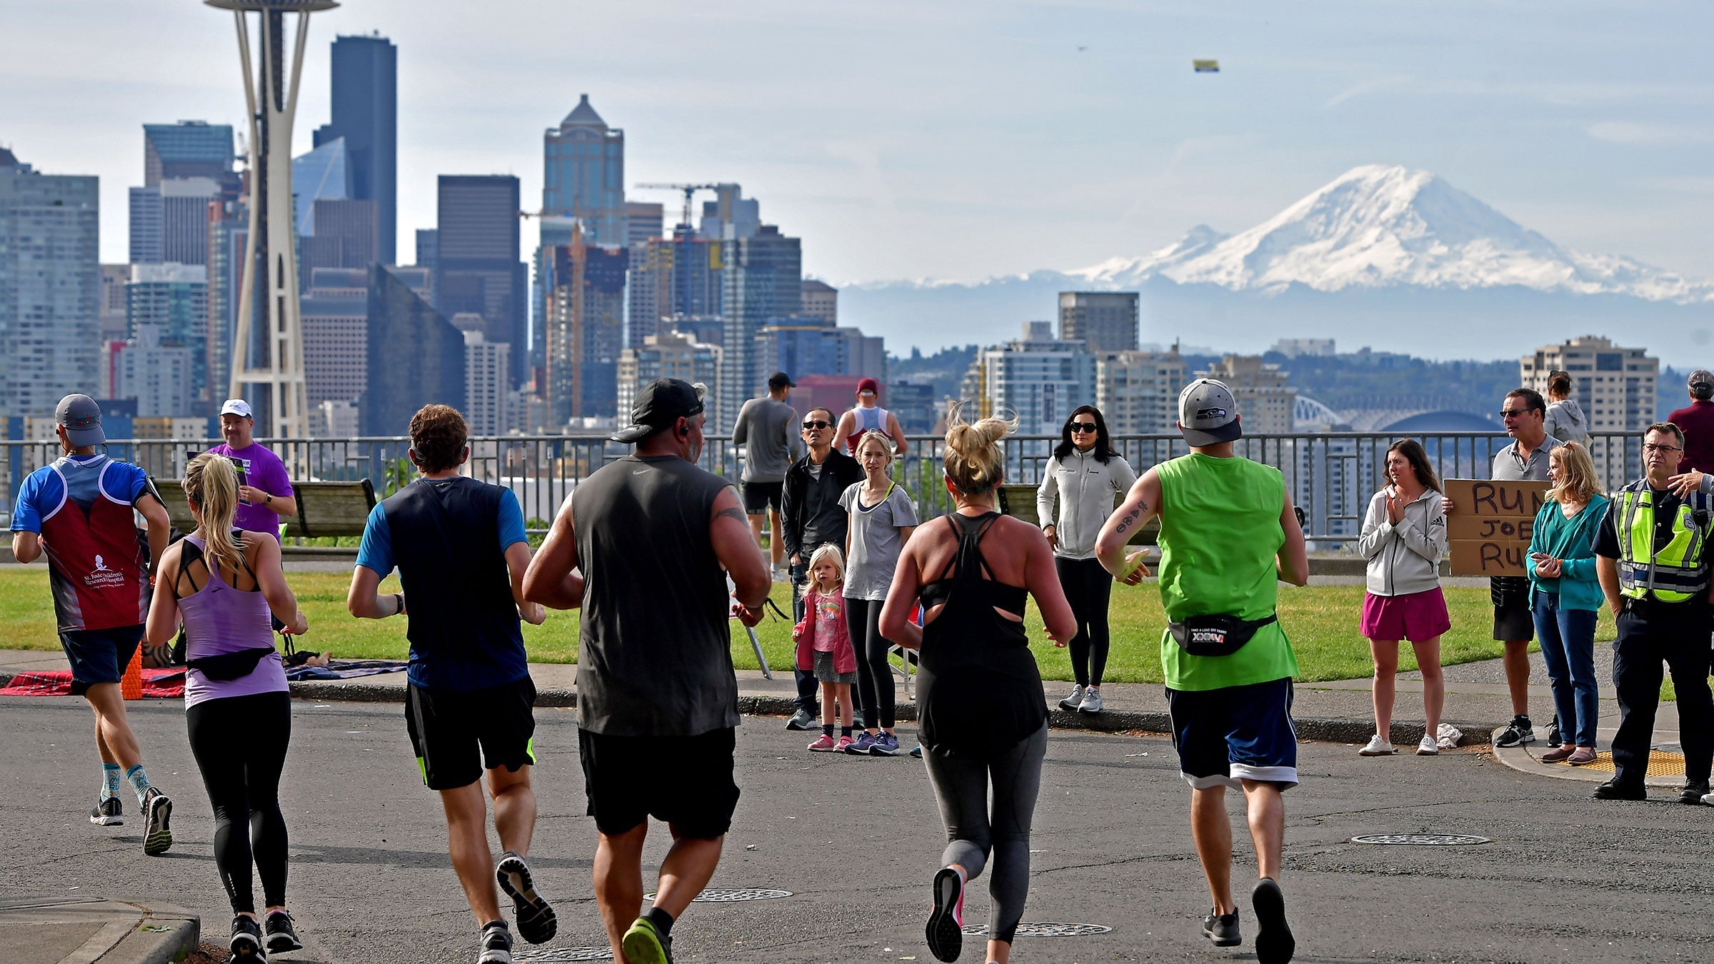
[[[1167,690],[1179,775],[1196,789],[1265,780],[1297,786],[1291,679],[1224,690]]]

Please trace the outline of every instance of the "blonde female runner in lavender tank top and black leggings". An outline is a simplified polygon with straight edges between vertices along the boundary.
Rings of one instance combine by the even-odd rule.
[[[293,635],[309,621],[279,571],[279,544],[233,530],[238,473],[204,453],[185,467],[197,530],[161,557],[149,609],[149,643],[165,645],[185,621],[185,722],[190,753],[214,808],[214,865],[231,901],[233,961],[300,950],[286,913],[286,818],[279,772],[291,743],[291,695],[274,652],[269,611]],[[262,877],[266,937],[255,919],[250,863]]]

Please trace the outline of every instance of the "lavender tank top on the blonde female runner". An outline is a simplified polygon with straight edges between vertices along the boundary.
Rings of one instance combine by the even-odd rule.
[[[207,563],[207,544],[201,537],[187,535],[185,542],[202,551],[204,563]],[[216,566],[207,566],[207,583],[178,600],[178,614],[185,621],[185,659],[261,647],[273,648],[274,631],[262,593],[231,588],[219,578]],[[255,669],[238,679],[209,679],[201,669],[185,671],[185,708],[204,700],[285,693],[286,690],[286,669],[279,662],[278,652],[264,655]]]

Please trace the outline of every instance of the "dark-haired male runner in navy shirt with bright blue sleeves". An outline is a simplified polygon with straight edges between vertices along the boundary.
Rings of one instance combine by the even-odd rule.
[[[495,878],[512,899],[519,937],[543,943],[557,930],[554,907],[536,894],[524,863],[536,818],[530,784],[535,683],[518,621],[540,626],[545,612],[523,597],[530,542],[518,496],[458,473],[470,458],[464,417],[425,405],[410,431],[410,458],[422,479],[369,513],[346,609],[360,619],[410,614],[406,731],[423,784],[439,791],[446,808],[452,870],[482,928],[476,962],[506,964],[512,935],[500,918]],[[377,595],[394,564],[405,592]],[[488,853],[483,768],[506,851],[499,868]]]

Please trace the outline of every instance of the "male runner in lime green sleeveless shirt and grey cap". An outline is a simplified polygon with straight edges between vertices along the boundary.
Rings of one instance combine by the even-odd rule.
[[[1131,487],[1100,528],[1095,554],[1126,585],[1142,581],[1142,552],[1126,557],[1136,527],[1160,516],[1160,635],[1167,708],[1179,770],[1191,789],[1191,837],[1214,911],[1202,931],[1232,947],[1232,825],[1226,787],[1244,791],[1262,880],[1250,894],[1262,964],[1291,961],[1296,940],[1280,894],[1286,806],[1297,786],[1291,678],[1297,657],[1274,614],[1279,581],[1308,581],[1303,528],[1277,468],[1232,451],[1243,434],[1232,393],[1196,379],[1179,393],[1179,431],[1191,453],[1160,463]]]

